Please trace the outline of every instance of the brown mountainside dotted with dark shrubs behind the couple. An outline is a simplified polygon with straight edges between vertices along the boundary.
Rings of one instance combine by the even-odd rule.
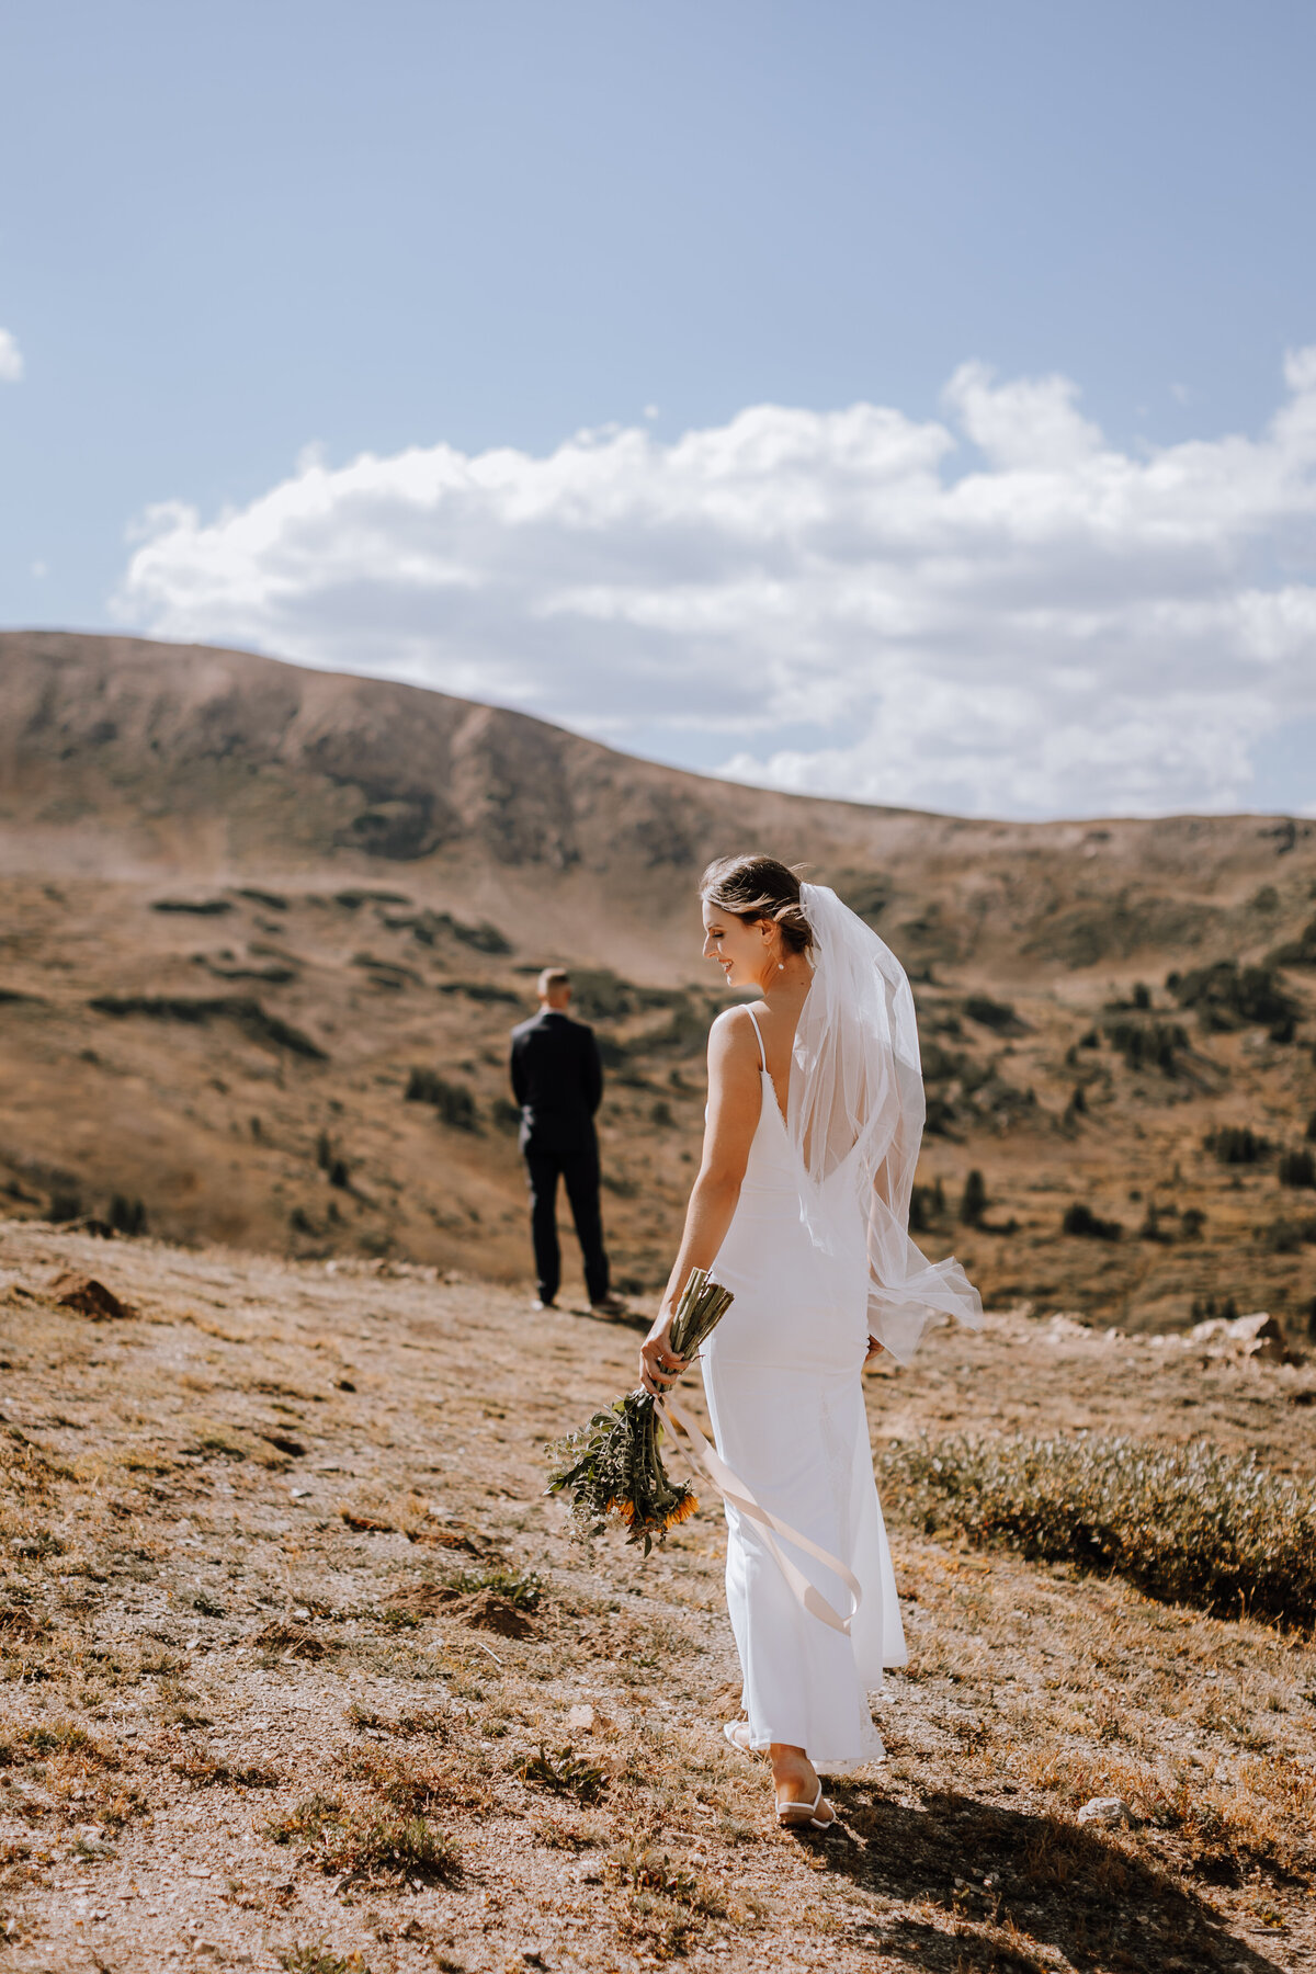
[[[4,1204],[523,1279],[507,1028],[568,959],[618,1275],[653,1289],[720,1005],[695,882],[744,843],[835,882],[915,981],[929,1253],[996,1305],[1273,1309],[1304,1340],[1316,825],[805,801],[138,640],[0,636]]]

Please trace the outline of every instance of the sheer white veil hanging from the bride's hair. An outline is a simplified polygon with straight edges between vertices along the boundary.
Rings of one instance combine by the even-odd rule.
[[[983,1327],[959,1261],[929,1261],[908,1232],[927,1111],[914,995],[892,949],[835,890],[803,884],[799,902],[813,932],[787,1103],[801,1212],[815,1248],[846,1271],[862,1265],[862,1240],[870,1334],[908,1364],[943,1315]]]

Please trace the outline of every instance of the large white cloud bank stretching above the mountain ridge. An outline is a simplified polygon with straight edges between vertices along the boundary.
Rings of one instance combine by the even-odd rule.
[[[1255,746],[1316,715],[1316,347],[1284,383],[1261,436],[1138,456],[1065,377],[981,363],[947,422],[756,405],[547,458],[308,452],[213,521],[152,509],[114,608],[801,792],[1247,807]]]

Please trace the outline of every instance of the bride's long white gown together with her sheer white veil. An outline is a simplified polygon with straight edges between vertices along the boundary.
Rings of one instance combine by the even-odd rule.
[[[908,1362],[923,1329],[981,1303],[955,1261],[908,1236],[923,1125],[914,1001],[900,963],[835,892],[805,884],[815,975],[795,1032],[789,1115],[760,1034],[762,1107],[740,1200],[710,1273],[734,1303],[700,1352],[718,1453],[779,1522],[860,1585],[848,1632],[787,1583],[764,1532],[726,1504],[726,1603],[750,1747],[803,1747],[837,1775],[882,1759],[868,1696],[906,1664],[872,1473],[868,1336]],[[789,1540],[791,1561],[844,1617],[842,1579]]]

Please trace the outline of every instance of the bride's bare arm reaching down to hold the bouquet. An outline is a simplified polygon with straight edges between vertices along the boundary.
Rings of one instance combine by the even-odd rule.
[[[663,1307],[639,1352],[639,1380],[645,1392],[673,1384],[679,1372],[659,1364],[679,1364],[667,1348],[671,1317],[693,1267],[712,1267],[736,1212],[740,1184],[750,1163],[750,1145],[764,1103],[754,1023],[744,1009],[726,1009],[708,1030],[708,1121],[698,1178],[685,1210],[685,1232],[677,1263],[667,1281]]]

